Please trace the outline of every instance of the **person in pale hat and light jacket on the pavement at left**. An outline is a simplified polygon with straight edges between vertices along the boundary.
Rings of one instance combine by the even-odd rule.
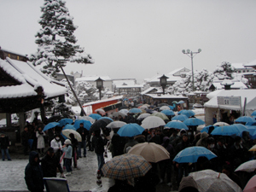
[[[64,155],[64,165],[67,169],[66,176],[71,175],[72,173],[72,154],[73,154],[73,148],[71,146],[71,141],[69,139],[66,139],[64,142],[64,145],[62,146],[62,151],[65,153]]]

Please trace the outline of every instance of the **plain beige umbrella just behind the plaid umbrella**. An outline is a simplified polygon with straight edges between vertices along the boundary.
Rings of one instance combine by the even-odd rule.
[[[128,154],[141,155],[148,162],[154,163],[170,159],[170,154],[166,148],[156,143],[138,143],[128,151]]]

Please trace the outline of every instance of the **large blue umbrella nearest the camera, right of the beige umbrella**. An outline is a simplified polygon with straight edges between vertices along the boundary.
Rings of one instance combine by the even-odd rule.
[[[207,157],[208,160],[212,160],[217,156],[204,147],[189,147],[180,151],[173,161],[177,163],[195,163],[199,157]]]

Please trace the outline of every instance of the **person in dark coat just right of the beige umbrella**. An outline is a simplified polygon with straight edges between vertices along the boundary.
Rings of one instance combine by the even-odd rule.
[[[168,160],[161,160],[160,161],[160,183],[163,183],[165,181],[166,177],[166,183],[169,187],[171,187],[171,174],[172,174],[172,160],[174,156],[174,148],[172,147],[172,144],[169,144],[170,138],[169,137],[164,137],[163,138],[163,143],[161,146],[166,148],[166,150],[170,154],[170,159]]]

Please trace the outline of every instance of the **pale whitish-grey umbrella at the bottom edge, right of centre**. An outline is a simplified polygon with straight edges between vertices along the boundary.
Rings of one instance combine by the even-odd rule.
[[[191,172],[189,175],[194,178],[199,191],[241,192],[241,188],[224,173],[208,169],[200,172]]]

